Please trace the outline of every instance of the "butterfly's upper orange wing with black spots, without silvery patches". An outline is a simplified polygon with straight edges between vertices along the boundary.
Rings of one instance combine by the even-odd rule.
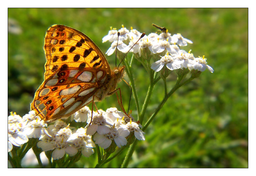
[[[44,41],[46,56],[45,78],[56,70],[68,67],[103,68],[111,73],[109,64],[92,40],[80,31],[63,25],[47,30]]]

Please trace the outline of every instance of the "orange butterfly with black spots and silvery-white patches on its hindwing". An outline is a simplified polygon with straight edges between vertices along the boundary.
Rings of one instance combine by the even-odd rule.
[[[117,82],[124,77],[125,66],[111,70],[88,36],[64,25],[47,30],[44,52],[44,82],[35,93],[31,110],[46,123],[103,100],[117,90]]]

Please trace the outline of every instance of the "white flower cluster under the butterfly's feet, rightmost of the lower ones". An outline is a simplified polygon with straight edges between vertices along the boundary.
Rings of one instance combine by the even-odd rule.
[[[88,118],[87,122],[90,121],[91,118]],[[145,140],[144,132],[140,130],[139,125],[117,108],[108,108],[106,112],[101,110],[99,114],[94,113],[92,124],[87,128],[86,134],[94,135],[95,144],[104,149],[111,145],[112,140],[121,147],[127,144],[126,137],[131,132],[134,132],[138,140]]]

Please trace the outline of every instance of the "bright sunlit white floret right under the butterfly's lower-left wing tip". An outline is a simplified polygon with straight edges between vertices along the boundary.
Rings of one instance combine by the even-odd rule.
[[[51,136],[46,130],[47,124],[44,123],[44,120],[41,120],[39,116],[37,116],[36,120],[32,120],[28,122],[28,124],[22,129],[28,138],[40,138],[42,135],[47,134]]]

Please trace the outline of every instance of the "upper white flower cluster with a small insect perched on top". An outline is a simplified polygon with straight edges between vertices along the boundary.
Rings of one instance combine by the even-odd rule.
[[[120,32],[117,45],[117,32]],[[114,53],[116,47],[119,51],[126,53],[140,38],[141,33],[131,27],[131,30],[122,28],[118,31],[112,29],[107,36],[102,38],[102,42],[112,42],[111,47],[106,54],[109,56]],[[142,37],[130,50],[135,54],[137,59],[150,59],[154,55],[159,55],[160,60],[152,63],[151,68],[156,72],[160,71],[164,65],[170,70],[188,68],[189,70],[204,71],[206,68],[213,73],[212,67],[207,65],[206,59],[203,57],[195,58],[192,53],[180,50],[180,46],[187,46],[193,42],[181,36],[181,34],[171,34],[162,32],[159,35],[151,33],[148,36]],[[148,54],[149,53],[149,54]],[[138,56],[137,56],[138,55]],[[164,55],[164,56],[162,56]],[[157,56],[158,57],[158,56]]]

